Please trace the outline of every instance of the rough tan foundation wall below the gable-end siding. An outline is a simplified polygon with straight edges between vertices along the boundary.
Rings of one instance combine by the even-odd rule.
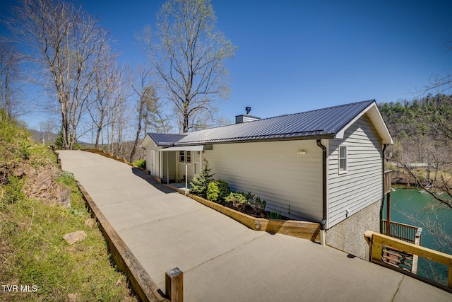
[[[379,233],[381,201],[353,214],[326,231],[326,245],[369,260],[369,245],[364,240],[367,230]]]

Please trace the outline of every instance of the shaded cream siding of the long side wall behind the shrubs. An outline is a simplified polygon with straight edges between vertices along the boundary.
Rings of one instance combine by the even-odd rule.
[[[232,190],[252,192],[285,216],[290,208],[294,219],[321,221],[322,153],[315,140],[215,144],[203,156]]]

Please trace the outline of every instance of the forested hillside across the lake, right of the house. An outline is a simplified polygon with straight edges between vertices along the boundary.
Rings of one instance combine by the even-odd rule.
[[[390,161],[405,168],[413,185],[444,191],[439,198],[452,207],[452,95],[382,103],[379,109],[394,139]]]

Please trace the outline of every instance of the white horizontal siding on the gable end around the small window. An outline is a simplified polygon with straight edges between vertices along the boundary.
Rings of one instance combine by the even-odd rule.
[[[340,146],[347,146],[347,173],[340,171]],[[328,228],[381,199],[381,138],[367,115],[352,124],[344,139],[328,144]]]

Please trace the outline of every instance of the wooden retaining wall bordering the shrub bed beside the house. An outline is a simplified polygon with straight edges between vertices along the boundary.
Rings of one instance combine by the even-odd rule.
[[[178,191],[181,194],[185,194],[184,189],[179,190],[176,187],[167,185],[172,190]],[[216,202],[210,202],[210,200],[198,197],[194,194],[186,194],[186,196],[204,204],[207,207],[215,209],[226,216],[239,221],[248,228],[254,231],[265,231],[270,233],[279,233],[287,236],[308,239],[317,243],[320,243],[320,223],[298,220],[279,220],[279,219],[264,219],[256,218],[242,212],[230,209],[228,207],[217,204]]]

